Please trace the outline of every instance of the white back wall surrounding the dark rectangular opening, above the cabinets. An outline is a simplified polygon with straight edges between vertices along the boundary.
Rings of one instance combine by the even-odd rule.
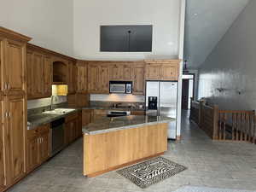
[[[88,60],[177,58],[180,0],[75,0],[74,54]],[[152,53],[100,52],[101,25],[153,25]]]

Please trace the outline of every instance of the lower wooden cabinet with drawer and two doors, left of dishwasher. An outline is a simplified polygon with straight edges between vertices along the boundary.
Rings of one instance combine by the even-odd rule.
[[[27,131],[26,145],[26,169],[27,172],[31,172],[49,158],[49,124]]]

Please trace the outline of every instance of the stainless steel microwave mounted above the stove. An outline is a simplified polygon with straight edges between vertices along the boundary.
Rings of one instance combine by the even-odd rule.
[[[132,93],[131,81],[109,81],[109,93]]]

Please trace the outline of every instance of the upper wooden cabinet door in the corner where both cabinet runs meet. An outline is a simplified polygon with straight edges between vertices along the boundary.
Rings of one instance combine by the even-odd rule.
[[[76,70],[78,92],[87,93],[87,65],[85,65],[84,63],[78,63]]]

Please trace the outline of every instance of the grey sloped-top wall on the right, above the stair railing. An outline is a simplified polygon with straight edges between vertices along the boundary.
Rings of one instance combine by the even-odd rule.
[[[253,0],[201,67],[199,97],[207,97],[220,108],[256,109],[255,10]]]

